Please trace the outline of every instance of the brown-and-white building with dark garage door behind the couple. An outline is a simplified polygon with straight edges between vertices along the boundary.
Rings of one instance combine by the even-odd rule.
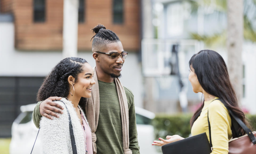
[[[140,1],[79,0],[78,21],[78,57],[91,66],[91,29],[101,23],[119,36],[129,53],[121,81],[142,107]],[[63,59],[62,34],[63,1],[0,0],[0,137],[11,135],[19,107],[36,103],[43,78]]]

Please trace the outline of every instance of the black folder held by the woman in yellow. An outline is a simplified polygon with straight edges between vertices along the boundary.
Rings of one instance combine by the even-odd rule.
[[[209,154],[211,147],[206,133],[190,136],[162,146],[163,154]]]

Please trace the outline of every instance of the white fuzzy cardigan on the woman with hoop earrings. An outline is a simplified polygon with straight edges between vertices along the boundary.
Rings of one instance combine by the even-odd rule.
[[[62,98],[61,101],[63,101],[66,104],[70,114],[75,137],[75,144],[77,147],[77,153],[85,154],[86,147],[83,136],[84,130],[81,126],[80,119],[78,119],[73,104],[70,101],[68,101],[65,98]],[[59,118],[53,117],[53,119],[51,120],[43,116],[40,120],[43,153],[73,153],[69,132],[69,116],[67,114],[65,105],[61,101],[55,101],[64,108],[63,114],[57,113],[59,115]],[[78,107],[80,108],[80,106]],[[83,117],[86,120],[86,123],[88,124],[85,114],[83,113],[83,110],[81,111]]]

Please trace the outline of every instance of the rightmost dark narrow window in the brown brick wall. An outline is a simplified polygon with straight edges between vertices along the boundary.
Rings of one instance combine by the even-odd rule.
[[[123,23],[123,0],[113,0],[113,21]]]

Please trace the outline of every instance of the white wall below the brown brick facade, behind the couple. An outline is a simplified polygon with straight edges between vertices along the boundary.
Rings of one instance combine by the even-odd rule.
[[[60,51],[15,50],[13,23],[0,23],[0,34],[0,76],[46,76],[63,59]],[[78,57],[95,66],[91,52],[79,52]],[[129,52],[120,80],[133,91],[135,106],[142,107],[142,73],[137,53]]]

